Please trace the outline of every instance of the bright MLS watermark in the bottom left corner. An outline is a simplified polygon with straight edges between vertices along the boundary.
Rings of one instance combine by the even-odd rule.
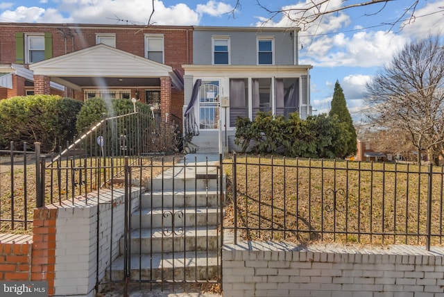
[[[0,282],[0,296],[48,297],[48,282]]]

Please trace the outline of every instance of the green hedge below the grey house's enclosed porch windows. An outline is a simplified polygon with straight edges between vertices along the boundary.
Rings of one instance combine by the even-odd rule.
[[[241,151],[275,153],[289,157],[338,158],[352,135],[337,117],[326,114],[300,119],[297,113],[288,118],[258,112],[254,121],[239,117],[235,143]]]

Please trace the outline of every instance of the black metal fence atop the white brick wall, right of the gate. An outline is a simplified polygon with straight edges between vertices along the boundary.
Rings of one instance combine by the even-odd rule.
[[[233,155],[235,239],[443,242],[443,167]]]

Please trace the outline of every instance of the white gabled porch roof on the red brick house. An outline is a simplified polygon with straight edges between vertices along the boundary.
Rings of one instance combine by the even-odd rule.
[[[35,75],[80,90],[82,87],[159,86],[161,76],[171,77],[178,90],[183,83],[173,68],[105,44],[81,49],[29,65]]]

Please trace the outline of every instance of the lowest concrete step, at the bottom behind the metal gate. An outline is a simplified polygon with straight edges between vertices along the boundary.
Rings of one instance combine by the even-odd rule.
[[[112,262],[107,272],[108,280],[124,279],[124,262],[122,256]],[[216,252],[131,255],[129,262],[131,280],[212,280],[221,269]]]

